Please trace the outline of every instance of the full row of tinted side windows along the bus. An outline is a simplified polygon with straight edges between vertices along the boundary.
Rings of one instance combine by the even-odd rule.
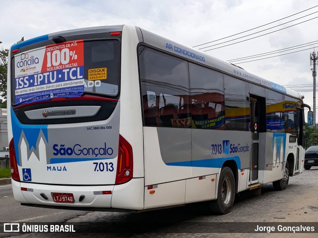
[[[139,66],[145,126],[251,131],[250,83],[145,46]],[[263,89],[259,132],[297,133],[301,102]]]

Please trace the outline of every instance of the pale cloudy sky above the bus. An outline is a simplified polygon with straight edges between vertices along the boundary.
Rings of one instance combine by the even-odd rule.
[[[279,20],[316,5],[316,0],[0,0],[0,48],[9,48],[22,36],[27,40],[61,30],[115,24],[136,25],[193,47]],[[286,29],[204,53],[228,61],[316,41],[316,11],[318,7],[194,49],[265,30],[299,17],[302,18],[236,41],[290,26]],[[311,15],[304,17],[308,14]],[[308,21],[292,26],[306,20]],[[223,45],[225,44],[215,47]],[[297,49],[308,50],[294,54],[237,65],[281,85],[313,84],[310,53],[314,51],[314,46]],[[318,44],[316,47],[318,48]],[[284,53],[289,52],[292,51]],[[300,93],[305,96],[304,102],[313,106],[313,91]]]

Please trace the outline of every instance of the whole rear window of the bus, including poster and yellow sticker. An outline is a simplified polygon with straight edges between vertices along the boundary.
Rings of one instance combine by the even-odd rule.
[[[12,57],[12,104],[78,97],[118,96],[120,41],[77,40]]]

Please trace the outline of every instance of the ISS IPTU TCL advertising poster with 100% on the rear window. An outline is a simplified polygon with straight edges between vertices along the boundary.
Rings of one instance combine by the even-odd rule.
[[[83,48],[83,41],[69,41],[15,55],[14,104],[81,96]]]

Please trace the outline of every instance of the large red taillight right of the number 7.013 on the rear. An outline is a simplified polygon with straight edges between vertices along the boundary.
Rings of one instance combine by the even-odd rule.
[[[115,184],[128,182],[133,178],[133,148],[119,135],[118,162]]]

